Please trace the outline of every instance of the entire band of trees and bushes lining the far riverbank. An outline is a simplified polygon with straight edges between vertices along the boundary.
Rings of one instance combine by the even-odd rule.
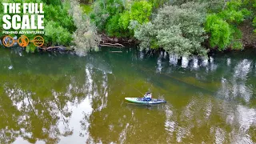
[[[83,56],[89,51],[97,51],[98,46],[139,45],[140,50],[165,50],[181,57],[206,57],[214,50],[256,48],[256,0],[29,2],[44,3],[45,29],[41,36],[45,45],[37,48],[31,44],[26,46],[27,52],[74,50]],[[4,36],[1,35],[1,40]],[[26,36],[34,38],[35,35]]]

